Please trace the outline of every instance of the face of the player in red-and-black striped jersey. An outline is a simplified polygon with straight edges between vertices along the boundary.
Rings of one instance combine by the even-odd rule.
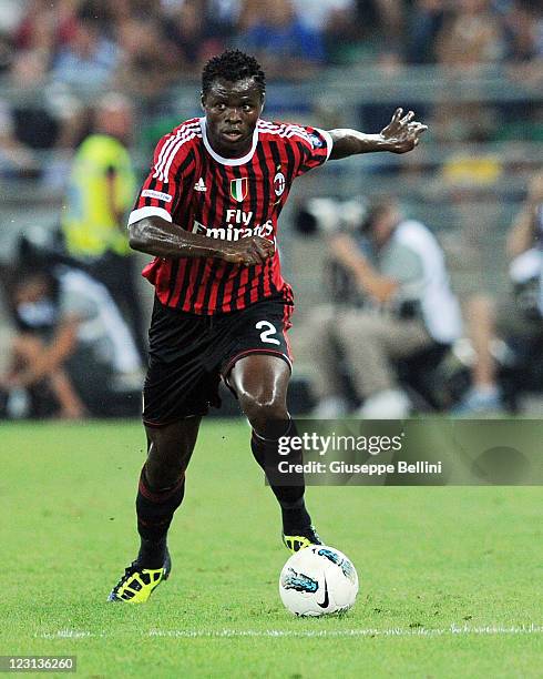
[[[215,80],[202,105],[208,139],[225,158],[239,158],[250,150],[253,132],[262,113],[264,97],[253,78],[236,82]]]

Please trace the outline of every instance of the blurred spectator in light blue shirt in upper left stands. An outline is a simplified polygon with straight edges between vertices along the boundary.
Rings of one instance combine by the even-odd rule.
[[[92,2],[80,7],[73,34],[54,59],[53,80],[83,91],[107,84],[119,62],[119,48],[105,36],[104,7],[99,6],[100,13]]]

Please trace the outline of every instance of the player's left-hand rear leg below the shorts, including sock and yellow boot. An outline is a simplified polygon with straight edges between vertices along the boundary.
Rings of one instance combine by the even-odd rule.
[[[140,553],[113,588],[110,601],[144,602],[170,576],[167,530],[185,495],[185,472],[199,422],[201,417],[188,417],[163,427],[145,427],[147,459],[136,497]]]

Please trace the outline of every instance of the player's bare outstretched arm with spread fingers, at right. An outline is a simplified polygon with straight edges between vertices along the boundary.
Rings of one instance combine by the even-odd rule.
[[[413,119],[412,111],[403,115],[403,110],[397,109],[392,120],[379,134],[365,134],[357,130],[329,130],[334,141],[330,160],[373,151],[391,153],[412,151],[418,145],[421,134],[428,130],[427,125]]]

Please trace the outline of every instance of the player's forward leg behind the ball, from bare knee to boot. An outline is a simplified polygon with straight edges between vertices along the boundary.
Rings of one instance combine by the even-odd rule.
[[[267,354],[250,354],[240,358],[228,375],[242,411],[253,427],[250,447],[256,462],[264,469],[280,505],[285,545],[298,550],[320,543],[311,526],[304,501],[304,475],[289,475],[288,485],[277,479],[279,459],[278,438],[294,434],[287,411],[287,388],[290,369],[285,361]],[[294,459],[296,457],[296,459]],[[289,462],[301,462],[301,454],[291,454]]]

